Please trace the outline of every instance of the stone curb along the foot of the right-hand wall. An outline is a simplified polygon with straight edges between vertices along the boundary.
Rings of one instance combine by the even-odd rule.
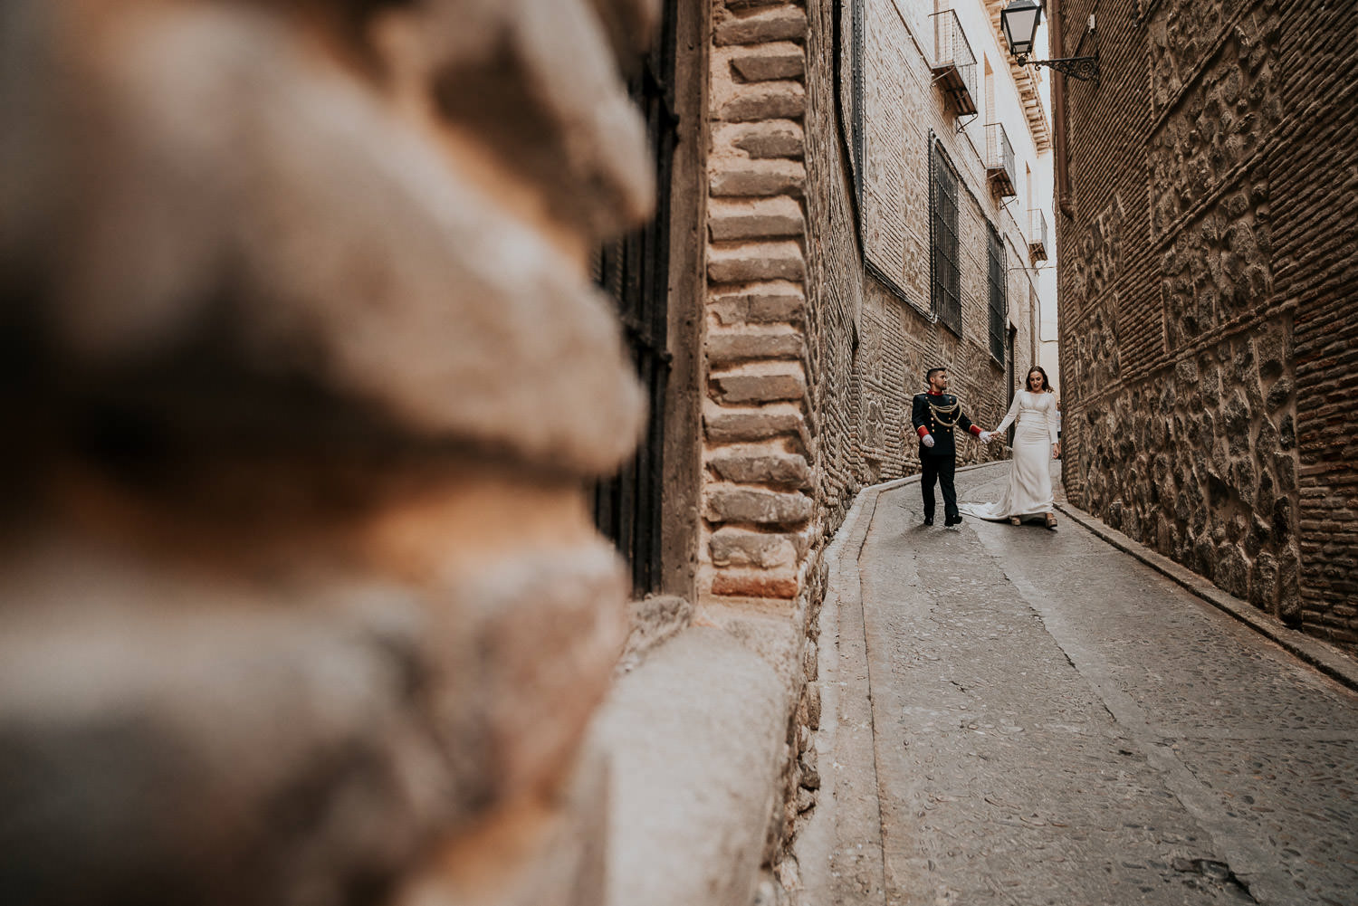
[[[1296,629],[1289,629],[1282,623],[1282,621],[1260,611],[1249,602],[1228,595],[1191,569],[1176,564],[1173,560],[1161,553],[1150,550],[1141,542],[1133,541],[1116,528],[1109,528],[1101,519],[1090,516],[1085,511],[1073,507],[1069,503],[1058,501],[1057,509],[1066,513],[1076,523],[1099,535],[1118,550],[1131,554],[1156,572],[1183,587],[1186,591],[1202,598],[1213,607],[1230,614],[1255,632],[1259,632],[1264,637],[1275,641],[1287,653],[1304,660],[1331,679],[1358,691],[1358,663],[1343,652],[1327,645],[1319,638],[1313,638],[1305,633],[1297,632]]]

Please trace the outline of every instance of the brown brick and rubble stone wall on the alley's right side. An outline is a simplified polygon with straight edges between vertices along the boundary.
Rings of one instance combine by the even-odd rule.
[[[1067,83],[1059,224],[1071,499],[1289,622],[1358,642],[1358,11],[1272,0],[1097,11]],[[1089,4],[1070,3],[1078,37]]]

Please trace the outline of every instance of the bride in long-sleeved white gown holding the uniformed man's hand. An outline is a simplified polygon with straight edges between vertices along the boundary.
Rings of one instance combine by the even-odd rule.
[[[963,504],[960,509],[991,522],[1008,519],[1014,526],[1025,516],[1042,516],[1047,528],[1055,528],[1051,458],[1061,455],[1061,439],[1057,435],[1057,395],[1042,365],[1028,371],[1028,387],[1014,395],[1009,414],[991,435],[998,437],[1014,421],[1019,431],[1014,432],[1013,467],[1004,496],[991,504]]]

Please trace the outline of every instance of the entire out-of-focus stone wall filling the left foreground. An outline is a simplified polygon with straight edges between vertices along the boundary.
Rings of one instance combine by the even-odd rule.
[[[600,902],[653,7],[0,5],[0,902]]]

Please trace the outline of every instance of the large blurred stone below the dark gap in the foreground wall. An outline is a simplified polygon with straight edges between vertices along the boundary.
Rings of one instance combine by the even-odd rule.
[[[519,497],[507,518],[553,508]],[[329,561],[289,562],[306,545],[257,551],[246,584],[71,538],[0,576],[0,594],[23,588],[30,607],[0,633],[0,876],[24,879],[11,891],[357,896],[507,803],[555,791],[621,648],[617,554],[557,542],[486,556],[470,526],[448,524],[425,537],[464,537],[466,558],[444,542],[421,551],[411,530],[432,527],[411,516],[369,526],[348,581],[310,590],[299,579]],[[364,573],[398,554],[421,580]],[[72,570],[96,600],[73,594]]]

